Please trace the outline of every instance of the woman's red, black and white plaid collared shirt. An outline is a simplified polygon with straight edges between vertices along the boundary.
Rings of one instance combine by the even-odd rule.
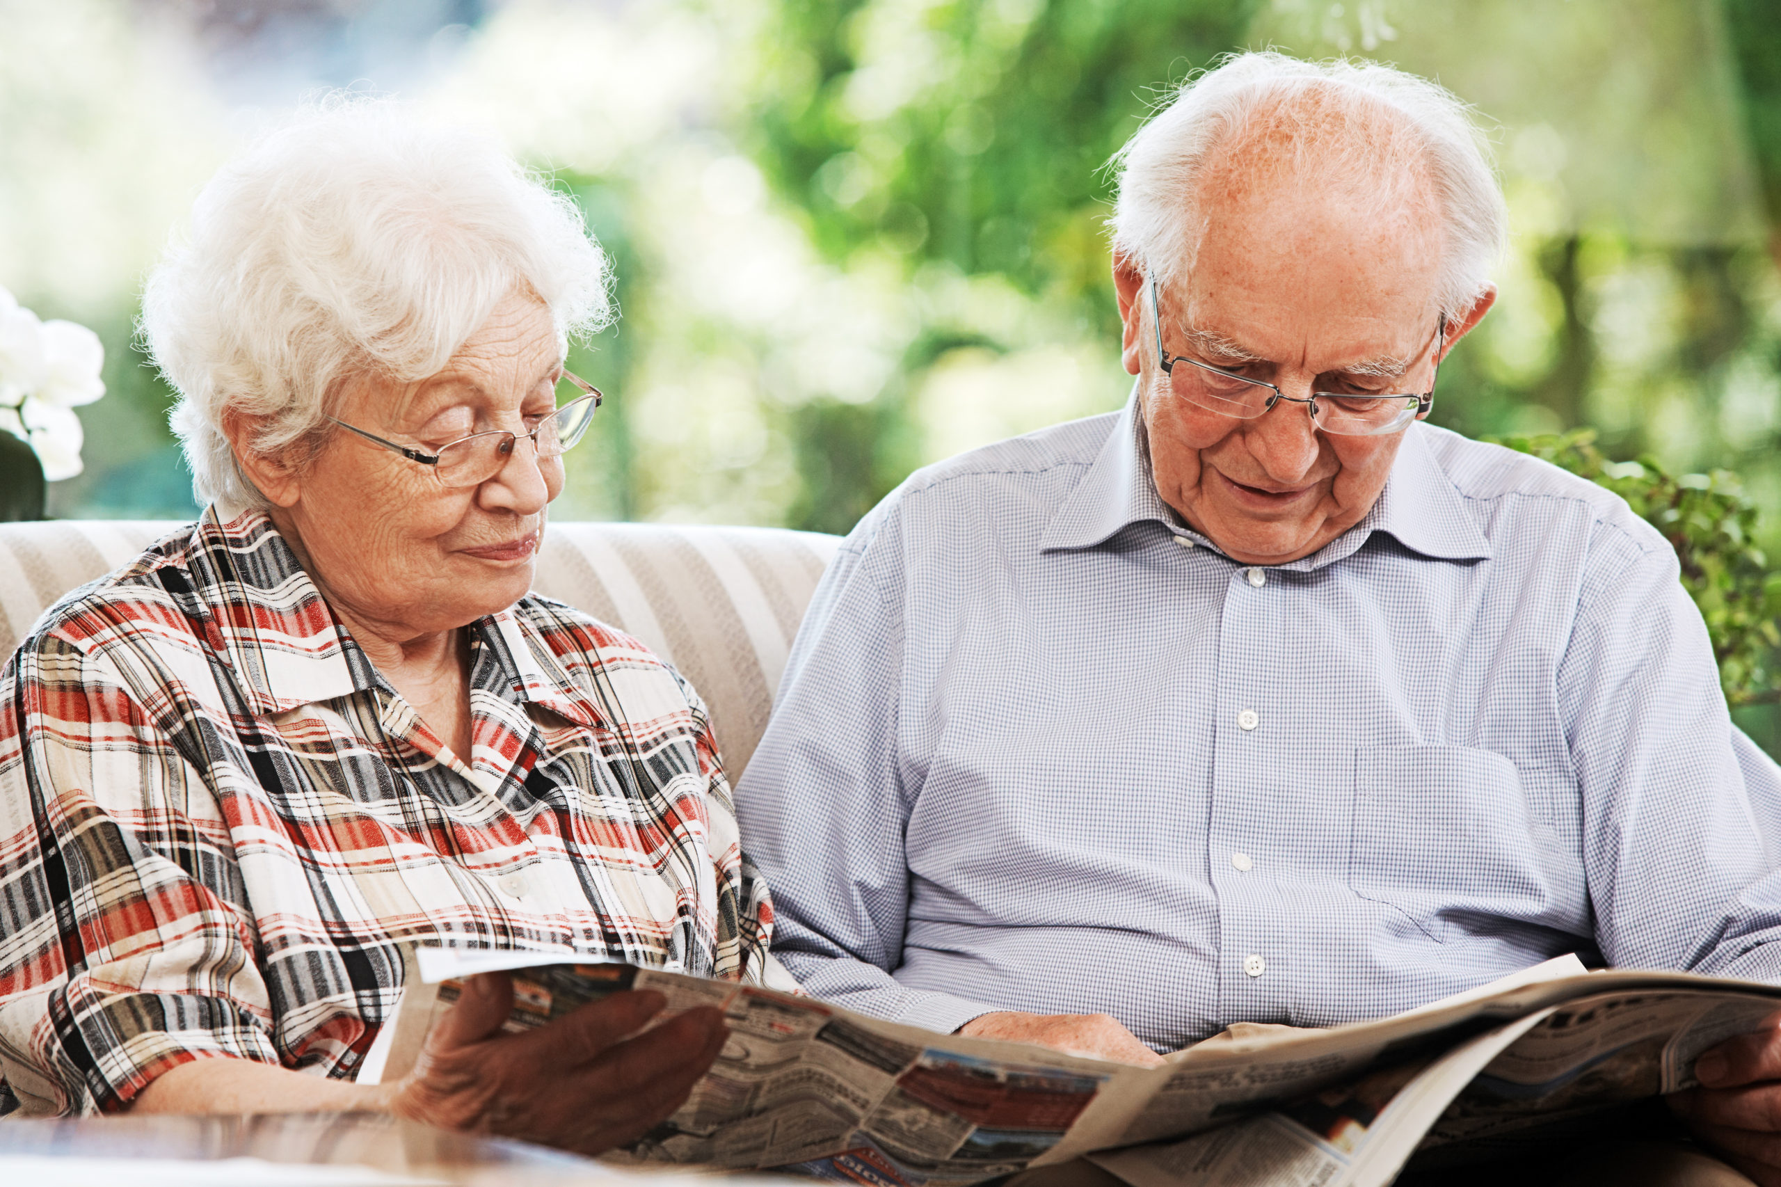
[[[205,1057],[351,1078],[399,941],[760,980],[773,909],[693,688],[541,597],[468,633],[465,759],[260,513],[43,617],[0,672],[0,1112],[114,1110]]]

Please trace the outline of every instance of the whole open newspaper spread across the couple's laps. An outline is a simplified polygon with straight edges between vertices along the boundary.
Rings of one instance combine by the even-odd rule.
[[[730,1041],[691,1098],[622,1155],[951,1187],[1086,1157],[1133,1187],[1373,1187],[1583,1126],[1694,1084],[1706,1048],[1781,1011],[1781,987],[1596,971],[1574,957],[1325,1030],[1238,1025],[1161,1068],[946,1036],[816,998],[547,954],[419,948],[386,1076],[408,1071],[463,977],[515,975],[509,1028],[620,989],[716,1005]]]

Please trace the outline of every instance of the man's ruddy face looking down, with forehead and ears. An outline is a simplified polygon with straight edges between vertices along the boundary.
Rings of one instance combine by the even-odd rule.
[[[1291,185],[1208,196],[1191,269],[1161,291],[1163,349],[1266,380],[1286,396],[1345,376],[1428,390],[1435,365],[1441,230],[1403,210],[1380,217]],[[1316,553],[1378,501],[1403,433],[1314,430],[1279,401],[1245,421],[1174,394],[1156,358],[1149,280],[1115,262],[1126,369],[1140,376],[1158,494],[1227,556],[1281,565]],[[1491,307],[1446,328],[1452,346]],[[1186,364],[1179,364],[1186,367]]]

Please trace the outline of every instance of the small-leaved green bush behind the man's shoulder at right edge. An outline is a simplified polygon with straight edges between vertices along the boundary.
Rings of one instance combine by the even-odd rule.
[[[1610,462],[1594,430],[1505,437],[1500,444],[1544,458],[1626,499],[1663,533],[1713,638],[1719,679],[1733,706],[1781,702],[1781,572],[1756,547],[1758,508],[1729,471],[1671,474],[1656,458]]]

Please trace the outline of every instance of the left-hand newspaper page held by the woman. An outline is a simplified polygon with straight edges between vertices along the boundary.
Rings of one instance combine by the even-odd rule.
[[[757,986],[629,964],[540,966],[540,955],[419,950],[422,984],[404,993],[386,1075],[413,1066],[426,1032],[472,973],[513,971],[511,1030],[620,989],[655,989],[668,998],[663,1018],[720,1007],[730,1041],[691,1098],[614,1160],[949,1187],[1024,1169],[1058,1144],[1106,1084],[1147,1073],[899,1027]]]

